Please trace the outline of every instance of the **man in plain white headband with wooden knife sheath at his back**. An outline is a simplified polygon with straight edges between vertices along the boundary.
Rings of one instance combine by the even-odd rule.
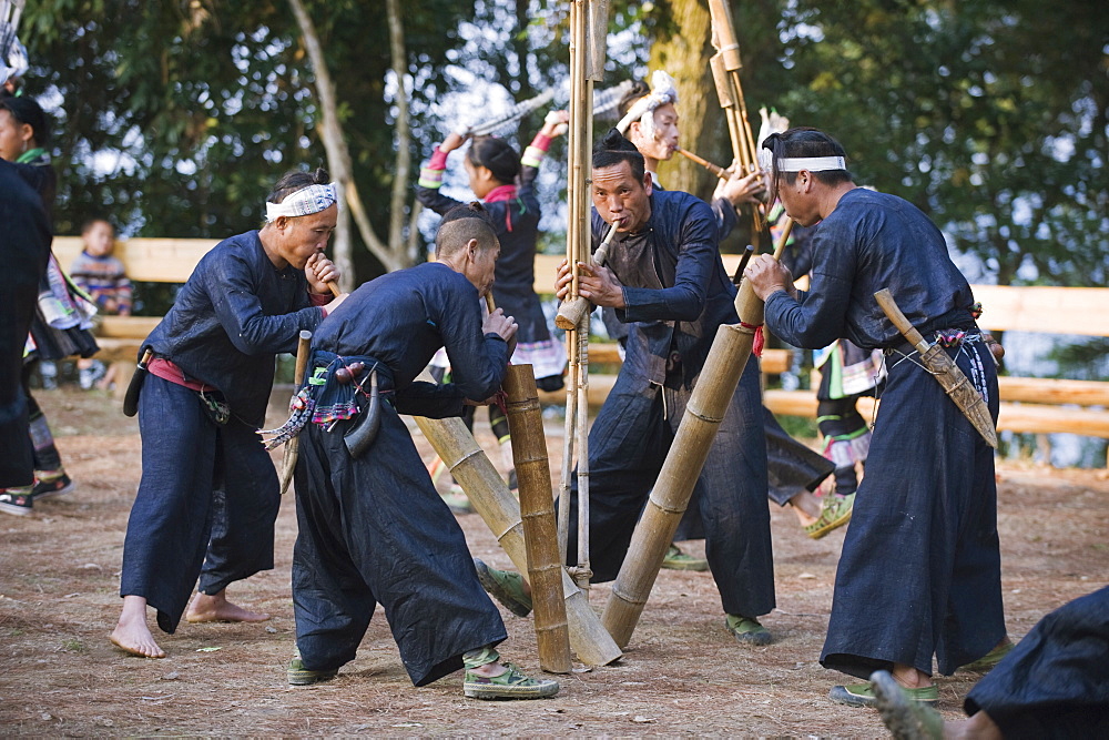
[[[888,670],[912,700],[935,703],[933,658],[949,676],[968,663],[988,670],[1011,648],[994,455],[874,293],[889,288],[920,334],[947,347],[995,420],[997,371],[975,324],[970,286],[924,213],[857,187],[843,148],[822,131],[791,129],[763,146],[786,213],[803,226],[821,224],[810,291],[796,291],[788,271],[765,255],[744,272],[766,302],[766,327],[797,347],[838,338],[881,347],[888,367],[821,662],[862,679]],[[836,686],[831,699],[875,704],[866,683]]]

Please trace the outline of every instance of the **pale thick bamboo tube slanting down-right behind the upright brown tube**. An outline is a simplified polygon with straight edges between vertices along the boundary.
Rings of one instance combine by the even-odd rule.
[[[497,536],[505,553],[520,572],[527,572],[528,556],[520,506],[508,490],[505,479],[474,440],[466,424],[458,417],[429,419],[420,416],[416,417],[416,424],[466,491],[474,509]],[[562,590],[566,594],[570,647],[578,660],[589,666],[607,666],[619,660],[622,655],[620,648],[589,608],[584,592],[564,571]]]

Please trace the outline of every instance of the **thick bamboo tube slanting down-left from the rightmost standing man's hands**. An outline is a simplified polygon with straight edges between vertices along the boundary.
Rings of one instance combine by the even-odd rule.
[[[787,239],[788,233],[784,233],[775,257],[781,257]],[[621,648],[631,639],[659,577],[667,548],[673,541],[693,486],[709,457],[716,429],[724,419],[740,376],[751,357],[755,332],[763,323],[763,302],[750,283],[744,282],[740,286],[736,306],[743,307],[743,313],[736,312],[740,323],[724,324],[716,330],[678,434],[662,464],[643,516],[635,525],[628,555],[601,615],[604,628]]]

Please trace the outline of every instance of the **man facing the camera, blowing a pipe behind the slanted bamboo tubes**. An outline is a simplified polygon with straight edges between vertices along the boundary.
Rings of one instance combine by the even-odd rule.
[[[609,267],[578,265],[579,292],[614,308],[630,330],[627,358],[589,433],[590,564],[593,580],[603,582],[620,570],[716,328],[739,320],[735,286],[704,201],[653,190],[643,156],[615,130],[593,151],[592,164],[593,249],[609,224],[618,236]],[[570,281],[563,263],[556,283],[560,298]],[[705,555],[725,624],[749,645],[770,642],[757,617],[774,608],[760,395],[759,365],[749,363],[700,477]],[[576,511],[576,491],[573,497]],[[569,551],[577,551],[572,535]],[[520,576],[484,564],[478,574],[513,612],[530,609]]]

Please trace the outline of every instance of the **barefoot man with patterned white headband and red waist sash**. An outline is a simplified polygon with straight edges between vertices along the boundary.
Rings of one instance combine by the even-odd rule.
[[[224,240],[196,265],[165,318],[139,399],[143,475],[128,521],[111,640],[164,658],[146,625],[173,633],[185,619],[263,621],[227,601],[228,584],[273,568],[277,473],[257,429],[277,353],[293,352],[343,302],[324,256],[338,207],[327,173],[289,172],[266,203],[266,223]]]

